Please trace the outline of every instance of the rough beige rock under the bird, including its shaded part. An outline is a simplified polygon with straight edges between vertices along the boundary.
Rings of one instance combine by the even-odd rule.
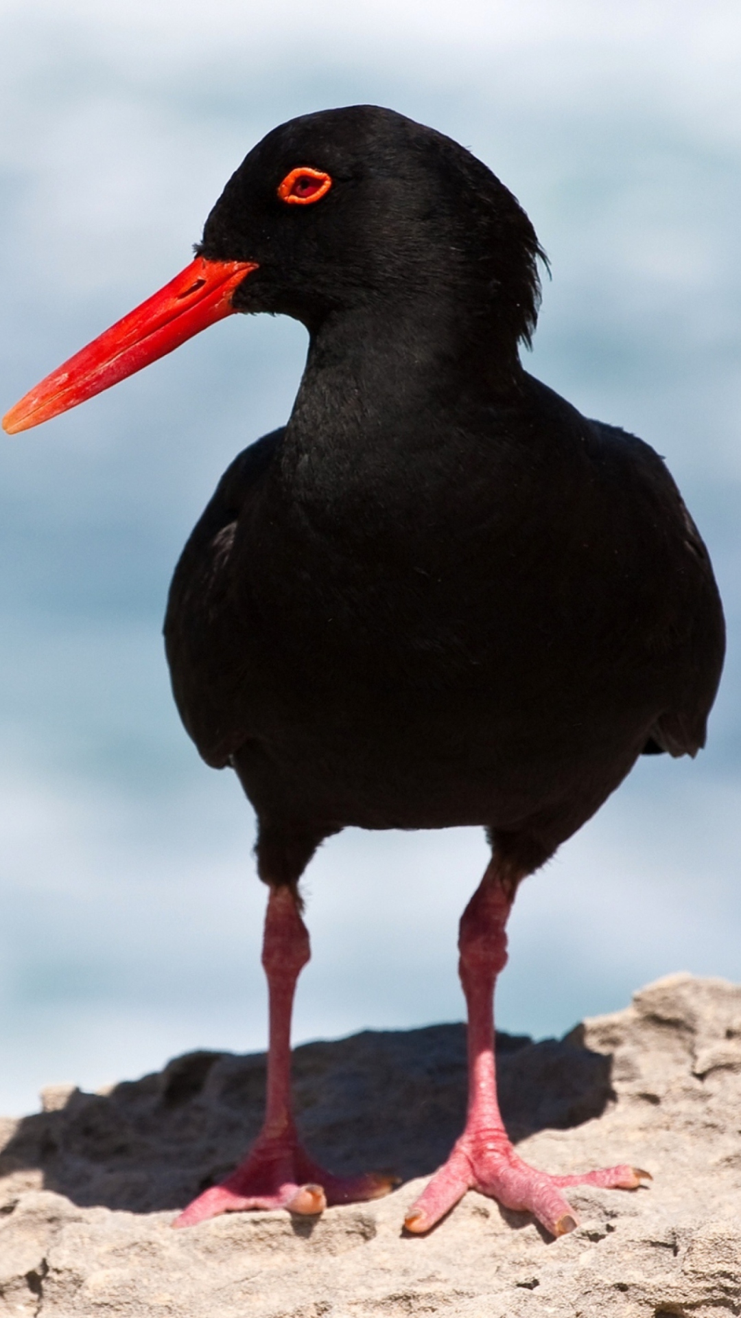
[[[628,1161],[634,1193],[575,1189],[551,1240],[471,1193],[427,1238],[403,1209],[465,1102],[461,1025],[295,1052],[306,1143],[402,1186],[320,1219],[235,1214],[171,1231],[256,1133],[262,1056],[193,1053],[156,1075],[0,1122],[0,1314],[41,1318],[721,1318],[741,1314],[741,987],[671,975],[564,1040],[501,1036],[502,1110],[548,1170]]]

